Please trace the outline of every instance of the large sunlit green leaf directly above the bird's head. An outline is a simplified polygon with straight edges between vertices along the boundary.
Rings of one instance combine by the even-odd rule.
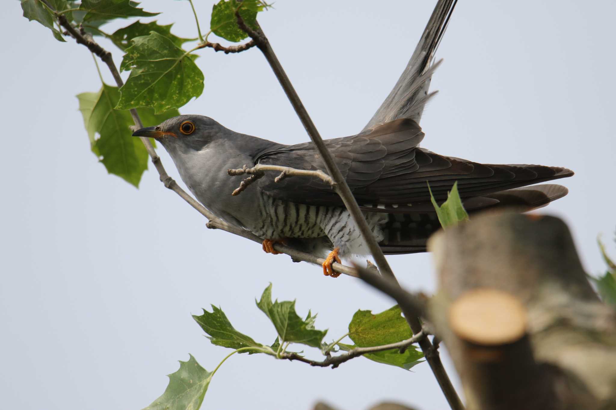
[[[120,89],[118,109],[179,108],[203,92],[203,73],[184,50],[158,33],[132,39],[120,65],[131,75]]]

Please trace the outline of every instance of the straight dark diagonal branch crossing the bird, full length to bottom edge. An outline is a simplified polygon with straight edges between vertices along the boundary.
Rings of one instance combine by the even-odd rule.
[[[349,186],[347,185],[344,176],[342,176],[342,173],[336,166],[331,152],[328,151],[327,147],[325,146],[325,143],[323,143],[323,139],[318,133],[317,128],[312,122],[312,119],[310,119],[306,108],[304,108],[304,104],[302,104],[302,101],[299,99],[298,93],[293,88],[293,84],[291,84],[289,77],[286,76],[285,70],[282,68],[282,65],[280,65],[280,61],[278,61],[278,58],[276,57],[276,54],[274,53],[274,50],[269,43],[269,40],[267,39],[267,37],[265,37],[265,34],[258,26],[258,24],[257,27],[259,28],[257,29],[257,31],[255,31],[251,29],[248,25],[246,25],[238,11],[235,12],[235,17],[237,18],[237,23],[238,26],[240,26],[241,30],[245,31],[245,33],[248,34],[248,36],[250,36],[254,42],[256,42],[257,47],[263,53],[265,60],[267,60],[270,67],[274,71],[278,82],[280,82],[280,85],[282,86],[283,90],[285,90],[286,97],[289,98],[291,105],[293,105],[293,109],[295,110],[296,114],[298,114],[298,117],[304,125],[304,128],[306,128],[306,132],[310,136],[310,140],[312,140],[312,142],[315,144],[315,147],[323,158],[323,162],[325,162],[325,168],[334,181],[334,190],[340,196],[342,202],[344,202],[344,206],[351,214],[355,225],[359,228],[359,231],[362,234],[363,240],[368,245],[370,253],[372,254],[373,258],[375,258],[376,266],[378,266],[379,270],[384,275],[389,277],[390,280],[397,282],[394,276],[394,272],[392,272],[391,267],[389,267],[389,263],[387,262],[387,259],[385,258],[385,255],[381,250],[381,247],[376,242],[375,237],[372,235],[370,227],[368,227],[366,218],[363,216],[359,205],[357,205],[357,200],[355,200],[355,197],[353,196],[351,189],[349,189]],[[410,310],[403,310],[403,313],[413,333],[418,334],[421,331],[421,321],[419,321],[419,318],[415,315],[415,312]],[[428,361],[430,368],[432,369],[432,373],[434,373],[437,382],[439,382],[439,386],[445,397],[447,398],[449,405],[454,410],[464,409],[462,401],[460,400],[460,397],[458,397],[458,393],[456,393],[455,388],[453,388],[452,382],[447,376],[447,372],[445,371],[443,363],[440,361],[438,350],[434,349],[432,343],[428,340],[427,337],[424,337],[423,339],[421,339],[421,341],[419,341],[419,346],[424,352],[426,360]]]

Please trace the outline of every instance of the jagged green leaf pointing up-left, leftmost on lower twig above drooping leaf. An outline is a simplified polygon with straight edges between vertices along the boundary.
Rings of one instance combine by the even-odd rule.
[[[222,310],[212,305],[212,312],[203,309],[203,315],[193,315],[201,329],[209,334],[208,339],[217,346],[240,349],[241,347],[263,347],[251,337],[238,332],[233,328],[229,319]]]

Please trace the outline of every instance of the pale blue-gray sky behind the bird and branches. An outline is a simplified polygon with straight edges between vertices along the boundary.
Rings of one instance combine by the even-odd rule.
[[[209,26],[212,4],[195,1],[201,26]],[[279,0],[259,22],[318,130],[335,138],[368,122],[434,4]],[[221,306],[239,331],[274,341],[273,326],[254,304],[269,282],[274,298],[297,299],[299,315],[318,312],[316,326],[329,329],[327,341],[346,333],[357,309],[392,306],[359,280],[323,277],[320,267],[209,231],[153,170],[139,189],[107,175],[89,151],[74,97],[100,88],[91,55],[29,23],[18,1],[6,6],[0,17],[4,408],[144,408],[163,393],[177,360],[192,353],[211,371],[230,353],[211,345],[191,318],[201,307]],[[142,7],[163,12],[160,23],[180,22],[174,34],[195,36],[188,2],[144,0]],[[567,221],[591,274],[604,270],[596,236],[610,240],[616,227],[615,14],[613,1],[461,1],[437,53],[444,63],[432,88],[440,93],[421,121],[422,146],[439,154],[574,170],[559,181],[569,195],[542,212]],[[102,44],[119,64],[120,50]],[[205,90],[180,112],[281,143],[308,140],[257,49],[200,55]],[[179,181],[166,152],[159,154]],[[616,254],[612,242],[609,250]],[[434,291],[429,254],[389,261],[408,289]],[[413,371],[364,358],[332,370],[235,356],[214,377],[202,408],[307,410],[317,400],[341,410],[381,400],[447,408],[428,365]]]

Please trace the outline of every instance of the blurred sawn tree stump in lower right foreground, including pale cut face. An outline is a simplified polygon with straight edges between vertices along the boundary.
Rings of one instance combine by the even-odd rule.
[[[439,282],[430,318],[469,410],[616,408],[616,312],[561,219],[488,213],[428,248]]]

